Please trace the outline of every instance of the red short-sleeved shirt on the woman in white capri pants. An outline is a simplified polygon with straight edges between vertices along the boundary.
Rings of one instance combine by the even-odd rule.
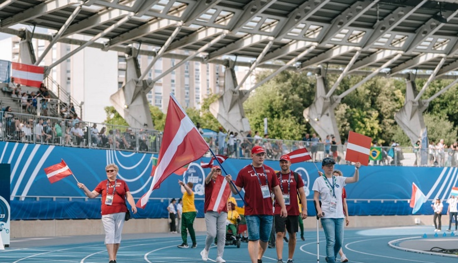
[[[108,179],[103,180],[94,189],[94,191],[102,194],[102,215],[127,212],[127,206],[125,205],[125,192],[130,191],[129,187],[124,180],[116,179],[116,193],[113,197],[113,204],[108,206],[105,205],[105,199],[107,198],[107,181]],[[114,182],[109,182],[109,195],[113,195],[113,186]]]

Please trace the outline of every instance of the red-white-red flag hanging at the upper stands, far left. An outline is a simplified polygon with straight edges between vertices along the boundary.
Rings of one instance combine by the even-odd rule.
[[[44,67],[11,62],[11,77],[17,84],[39,88],[44,79]]]

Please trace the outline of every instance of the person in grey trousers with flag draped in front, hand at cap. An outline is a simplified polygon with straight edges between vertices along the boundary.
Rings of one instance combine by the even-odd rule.
[[[227,218],[227,206],[226,206],[226,200],[229,197],[230,191],[227,191],[227,196],[224,197],[224,192],[223,196],[221,197],[221,201],[224,202],[224,205],[222,207],[221,211],[218,211],[218,208],[214,209],[214,206],[211,207],[210,203],[212,202],[213,199],[218,198],[218,193],[219,191],[214,191],[214,188],[217,187],[217,180],[218,177],[221,177],[221,168],[219,166],[213,166],[212,170],[210,173],[208,173],[207,177],[205,178],[205,202],[204,202],[204,208],[203,212],[205,213],[205,225],[207,227],[207,238],[205,240],[205,247],[201,251],[201,256],[203,261],[208,260],[208,252],[210,250],[210,246],[212,245],[213,241],[215,240],[215,237],[218,236],[218,241],[217,241],[217,257],[216,257],[216,262],[218,263],[224,263],[226,262],[223,259],[223,253],[224,253],[224,244],[226,242],[226,218]],[[227,184],[226,184],[227,185]],[[220,185],[220,188],[222,185]],[[229,189],[229,185],[227,187]],[[217,189],[218,190],[218,189]],[[223,190],[224,189],[220,189]]]

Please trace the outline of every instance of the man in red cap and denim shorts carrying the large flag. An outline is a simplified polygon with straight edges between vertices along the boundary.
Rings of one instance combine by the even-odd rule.
[[[262,263],[273,223],[272,193],[279,205],[280,216],[286,217],[286,207],[278,179],[273,168],[264,165],[266,151],[261,146],[251,149],[251,164],[242,168],[237,175],[237,190],[245,189],[245,219],[248,227],[248,253],[251,263]],[[230,182],[230,175],[226,176]],[[234,194],[237,193],[230,184]],[[261,241],[260,241],[261,240]]]

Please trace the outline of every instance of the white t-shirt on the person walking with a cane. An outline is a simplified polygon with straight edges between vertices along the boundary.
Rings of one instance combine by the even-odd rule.
[[[313,183],[312,190],[313,191],[318,191],[320,193],[320,199],[322,202],[321,205],[321,210],[324,212],[324,217],[323,218],[345,218],[344,215],[344,204],[342,203],[342,189],[344,189],[345,184],[345,179],[346,177],[343,176],[333,176],[335,178],[335,186],[334,186],[334,191],[335,191],[335,196],[337,199],[337,206],[336,206],[336,211],[331,212],[330,206],[331,206],[331,199],[333,198],[333,194],[331,193],[331,190],[329,189],[329,185],[333,185],[333,179],[328,178],[329,183],[326,183],[326,179],[324,179],[323,176],[320,176],[315,179],[315,182]]]

